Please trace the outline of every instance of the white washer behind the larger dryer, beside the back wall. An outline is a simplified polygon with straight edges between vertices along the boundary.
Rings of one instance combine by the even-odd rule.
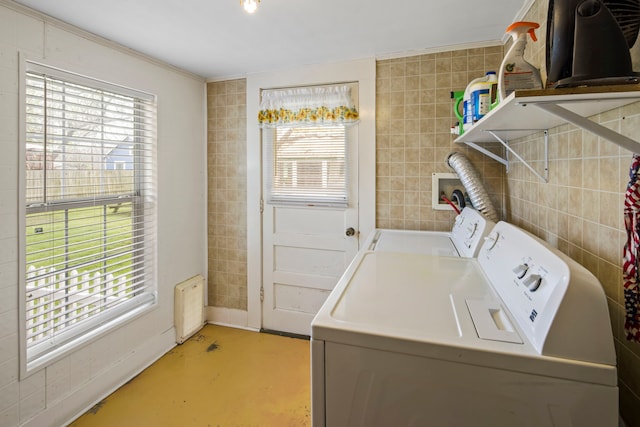
[[[376,229],[363,247],[377,252],[475,257],[495,223],[464,208],[450,232]]]

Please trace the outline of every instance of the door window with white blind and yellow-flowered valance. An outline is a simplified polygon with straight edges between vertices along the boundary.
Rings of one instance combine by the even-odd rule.
[[[262,90],[268,203],[349,205],[348,127],[359,117],[353,93],[356,83]]]

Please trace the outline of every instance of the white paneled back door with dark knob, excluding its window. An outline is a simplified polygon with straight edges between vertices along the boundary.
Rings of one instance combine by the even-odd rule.
[[[310,335],[311,320],[358,251],[357,126],[347,141],[346,207],[264,203],[263,329]]]

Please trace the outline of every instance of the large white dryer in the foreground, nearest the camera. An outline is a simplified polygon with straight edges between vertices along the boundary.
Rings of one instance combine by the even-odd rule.
[[[617,424],[600,283],[504,222],[477,259],[360,252],[311,350],[315,427]]]

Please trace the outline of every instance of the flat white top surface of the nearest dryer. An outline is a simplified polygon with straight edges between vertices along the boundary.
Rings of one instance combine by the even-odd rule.
[[[463,262],[460,262],[463,261]],[[410,340],[461,341],[454,296],[495,300],[479,266],[462,258],[368,252],[331,310],[342,327]],[[468,311],[465,310],[465,317]],[[476,339],[475,330],[465,331]]]

